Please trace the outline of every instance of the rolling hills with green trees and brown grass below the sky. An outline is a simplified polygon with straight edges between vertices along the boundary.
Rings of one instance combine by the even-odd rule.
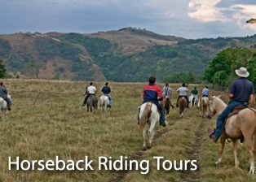
[[[149,75],[157,80],[181,72],[200,76],[221,50],[254,42],[256,34],[188,40],[136,28],[90,34],[17,32],[0,35],[0,58],[12,76],[33,77],[20,72],[35,62],[39,78],[139,82]]]

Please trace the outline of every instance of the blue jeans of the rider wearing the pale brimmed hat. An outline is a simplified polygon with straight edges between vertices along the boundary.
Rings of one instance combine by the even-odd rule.
[[[214,133],[215,138],[218,139],[221,136],[221,133],[223,132],[224,120],[226,119],[227,115],[229,115],[236,106],[246,106],[246,107],[248,107],[248,105],[245,104],[244,102],[234,102],[234,101],[229,102],[229,104],[223,110],[223,112],[218,115],[218,119],[217,119],[217,123],[216,123],[216,130],[215,130],[215,133]]]

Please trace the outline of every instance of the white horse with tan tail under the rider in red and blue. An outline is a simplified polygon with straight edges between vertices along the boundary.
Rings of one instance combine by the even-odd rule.
[[[160,119],[160,114],[157,111],[157,106],[152,102],[145,102],[140,106],[139,111],[139,128],[143,132],[143,150],[152,147],[152,139],[155,133],[155,126]],[[148,123],[148,136],[146,124]],[[148,137],[148,145],[146,145],[146,137]]]

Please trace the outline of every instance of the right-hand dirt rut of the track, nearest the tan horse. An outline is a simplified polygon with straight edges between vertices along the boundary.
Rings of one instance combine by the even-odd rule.
[[[192,160],[196,160],[197,162],[199,161],[201,141],[202,141],[203,135],[205,134],[204,125],[205,125],[205,119],[201,119],[201,124],[195,131],[195,143],[187,152],[188,158],[190,161]],[[198,165],[198,163],[196,165],[197,165],[197,169],[195,171],[192,171],[192,170],[181,171],[182,172],[181,178],[183,179],[183,181],[189,181],[189,182],[200,181],[199,180],[200,166]],[[191,169],[191,168],[194,168],[194,167],[191,165],[191,163],[188,163],[188,169]]]

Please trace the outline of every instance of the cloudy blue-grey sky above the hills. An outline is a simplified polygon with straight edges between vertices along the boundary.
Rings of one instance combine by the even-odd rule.
[[[0,34],[146,28],[188,39],[256,34],[256,0],[0,0]]]

